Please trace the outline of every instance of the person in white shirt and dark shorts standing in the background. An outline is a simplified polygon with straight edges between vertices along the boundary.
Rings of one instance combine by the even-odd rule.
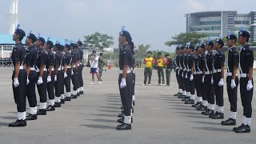
[[[93,54],[91,56],[91,62],[90,62],[90,74],[92,74],[92,82],[90,83],[91,85],[94,85],[94,74],[96,74],[98,78],[98,84],[101,85],[102,83],[100,82],[100,79],[98,77],[98,55],[96,54],[96,51],[93,51]]]

